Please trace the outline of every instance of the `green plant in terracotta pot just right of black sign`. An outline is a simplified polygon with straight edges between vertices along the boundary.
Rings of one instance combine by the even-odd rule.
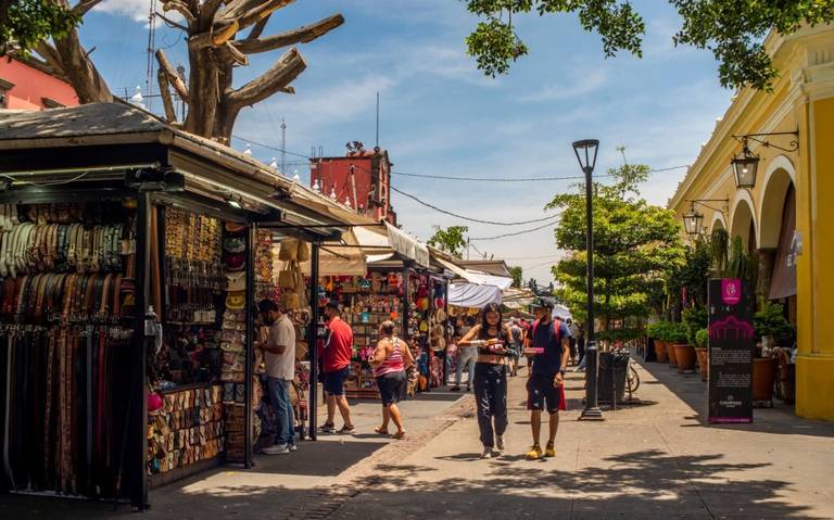
[[[753,316],[753,326],[756,335],[761,338],[761,347],[756,348],[753,360],[753,401],[773,406],[773,383],[779,365],[773,357],[773,346],[776,341],[791,338],[793,328],[785,319],[782,305],[770,302]]]

